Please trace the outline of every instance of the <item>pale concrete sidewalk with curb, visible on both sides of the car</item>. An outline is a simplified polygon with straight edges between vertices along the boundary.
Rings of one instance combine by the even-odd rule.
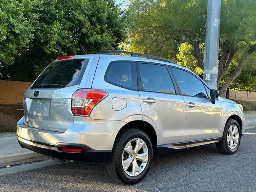
[[[256,114],[245,114],[246,126],[256,126]],[[17,136],[0,137],[0,167],[48,158],[20,146]]]

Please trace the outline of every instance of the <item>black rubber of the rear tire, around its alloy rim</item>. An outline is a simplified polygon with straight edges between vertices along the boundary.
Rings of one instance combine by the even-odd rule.
[[[123,153],[123,150],[124,150],[124,147],[126,146],[126,144],[134,138],[140,138],[140,139],[144,140],[144,142],[146,143],[146,145],[148,147],[148,163],[141,174],[139,174],[138,176],[132,177],[132,176],[129,176],[128,174],[126,174],[122,168],[122,153]],[[146,176],[146,174],[148,173],[149,168],[151,166],[151,163],[152,163],[153,148],[152,148],[150,139],[143,131],[135,130],[134,133],[129,134],[125,140],[118,142],[118,144],[120,144],[120,146],[122,146],[122,147],[119,148],[119,150],[116,153],[117,154],[116,166],[118,167],[118,172],[119,172],[120,176],[122,177],[122,180],[124,180],[124,182],[127,184],[139,182]]]

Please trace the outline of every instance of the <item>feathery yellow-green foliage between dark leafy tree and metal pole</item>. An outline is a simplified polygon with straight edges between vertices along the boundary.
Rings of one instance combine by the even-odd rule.
[[[177,49],[174,38],[204,42],[206,2],[202,0],[132,0],[132,48],[142,52]],[[176,52],[172,57],[176,57]],[[162,56],[162,55],[161,55]]]

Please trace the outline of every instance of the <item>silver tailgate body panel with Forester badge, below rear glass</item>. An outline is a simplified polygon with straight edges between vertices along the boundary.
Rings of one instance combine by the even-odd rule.
[[[61,89],[28,89],[24,98],[24,119],[28,126],[64,132],[74,122],[72,93],[78,85]]]

